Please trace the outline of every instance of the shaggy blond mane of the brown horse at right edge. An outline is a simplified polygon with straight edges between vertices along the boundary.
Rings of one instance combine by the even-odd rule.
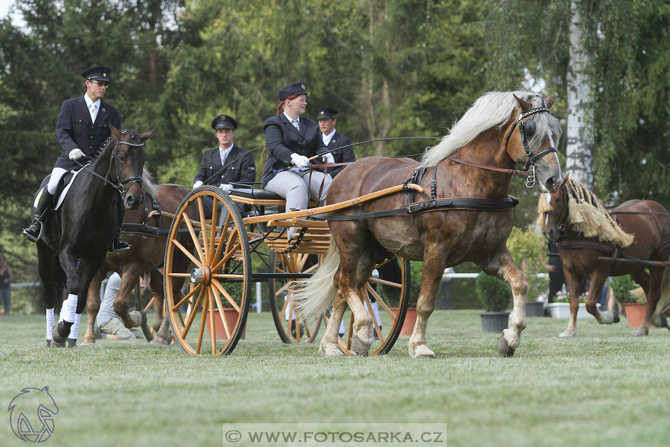
[[[607,212],[602,201],[576,180],[568,179],[567,223],[586,237],[597,237],[600,242],[609,242],[618,247],[628,247],[634,237],[621,229]]]

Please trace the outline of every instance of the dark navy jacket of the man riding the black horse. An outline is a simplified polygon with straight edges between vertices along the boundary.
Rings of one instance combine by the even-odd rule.
[[[84,155],[94,156],[98,153],[105,140],[109,138],[110,124],[121,129],[119,111],[110,103],[100,101],[96,122],[91,123],[91,114],[84,101],[84,96],[68,99],[61,106],[56,123],[56,135],[63,147],[54,168],[79,169],[80,166],[70,160],[68,154],[75,147],[84,152]],[[80,160],[85,163],[87,159]]]

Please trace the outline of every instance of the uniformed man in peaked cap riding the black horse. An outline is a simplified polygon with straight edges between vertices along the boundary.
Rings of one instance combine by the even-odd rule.
[[[45,191],[40,196],[34,221],[23,231],[23,234],[32,242],[37,242],[40,237],[42,216],[53,206],[53,195],[61,177],[68,170],[80,169],[79,163],[88,163],[97,156],[99,149],[103,147],[112,133],[110,124],[121,129],[119,111],[110,103],[103,101],[103,96],[110,86],[110,71],[109,67],[103,66],[84,71],[82,77],[86,80],[86,93],[77,98],[68,99],[61,105],[56,123],[56,135],[63,151],[54,164]],[[114,238],[111,251],[130,248],[130,245],[121,240],[124,204],[122,200],[117,203],[119,232]]]

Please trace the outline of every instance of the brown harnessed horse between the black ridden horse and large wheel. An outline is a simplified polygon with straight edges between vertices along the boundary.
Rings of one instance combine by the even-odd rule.
[[[147,182],[147,177],[144,177],[144,184],[149,183],[149,192],[151,197],[158,205],[161,212],[168,212],[174,215],[177,212],[179,203],[188,194],[189,189],[177,184],[151,184]],[[105,257],[105,262],[100,270],[91,281],[89,287],[89,297],[87,301],[87,330],[86,336],[82,346],[89,346],[96,342],[94,335],[94,325],[96,316],[100,310],[100,286],[107,275],[107,272],[114,271],[121,275],[121,287],[117,297],[114,298],[114,312],[121,316],[124,325],[127,328],[134,328],[141,323],[141,314],[137,311],[128,312],[128,300],[133,292],[133,288],[140,279],[143,272],[151,271],[151,293],[154,295],[154,339],[151,344],[168,344],[170,342],[168,327],[168,318],[163,318],[163,302],[165,301],[165,291],[163,290],[163,275],[158,272],[158,268],[163,265],[165,258],[165,246],[168,244],[168,230],[170,223],[172,223],[172,216],[162,216],[153,210],[153,206],[149,200],[149,196],[144,195],[144,206],[137,208],[137,210],[126,212],[124,223],[142,224],[158,228],[160,233],[158,235],[142,235],[135,233],[124,233],[124,241],[131,244],[131,249],[126,251],[108,252]],[[193,209],[195,212],[195,208]],[[158,219],[156,217],[158,216]],[[191,216],[196,219],[196,216]],[[177,238],[179,242],[188,250],[193,250],[193,240],[184,233]],[[188,258],[179,251],[174,254],[174,261],[177,267],[181,268],[182,263],[185,263],[184,269],[188,265]],[[179,270],[181,271],[181,270]],[[179,296],[179,288],[181,284],[179,281],[173,281],[174,295]]]

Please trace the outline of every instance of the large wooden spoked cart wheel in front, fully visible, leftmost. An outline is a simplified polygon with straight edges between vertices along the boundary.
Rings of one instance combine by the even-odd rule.
[[[205,217],[208,202],[211,219]],[[184,233],[192,251],[184,244]],[[177,268],[176,256],[187,256],[191,263]],[[204,186],[181,201],[170,226],[163,278],[170,325],[181,349],[191,355],[230,354],[246,325],[251,253],[244,222],[228,194]],[[184,278],[194,287],[175,296],[172,282]],[[181,312],[191,299],[191,312]]]

